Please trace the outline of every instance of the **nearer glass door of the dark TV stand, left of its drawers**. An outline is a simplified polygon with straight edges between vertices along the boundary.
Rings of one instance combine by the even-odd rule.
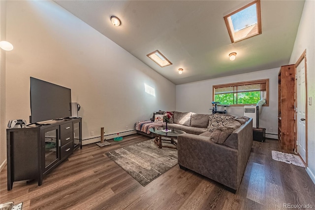
[[[58,127],[45,131],[45,168],[48,169],[59,160]]]

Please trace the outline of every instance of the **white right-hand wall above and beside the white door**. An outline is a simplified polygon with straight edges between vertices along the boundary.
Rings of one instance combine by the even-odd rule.
[[[308,173],[315,183],[315,1],[306,0],[296,35],[290,63],[295,64],[306,49],[307,58],[307,92],[312,97],[308,110]]]

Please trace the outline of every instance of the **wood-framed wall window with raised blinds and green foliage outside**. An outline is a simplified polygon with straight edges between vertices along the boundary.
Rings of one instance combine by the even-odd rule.
[[[269,106],[269,79],[213,86],[213,101],[222,105],[256,105],[261,99]]]

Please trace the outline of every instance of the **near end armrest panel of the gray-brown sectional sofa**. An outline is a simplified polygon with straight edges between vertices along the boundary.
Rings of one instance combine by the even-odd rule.
[[[208,137],[182,134],[178,137],[178,164],[237,190],[236,149],[214,143]]]

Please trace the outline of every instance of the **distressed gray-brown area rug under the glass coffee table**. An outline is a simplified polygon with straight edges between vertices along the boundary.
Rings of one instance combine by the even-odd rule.
[[[105,154],[143,186],[177,164],[177,150],[159,149],[154,139]]]

